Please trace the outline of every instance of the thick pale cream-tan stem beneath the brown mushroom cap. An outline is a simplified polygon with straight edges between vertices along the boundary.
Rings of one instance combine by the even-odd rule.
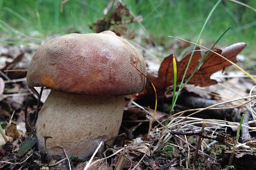
[[[47,146],[59,144],[68,156],[90,156],[101,141],[114,142],[123,106],[124,96],[81,96],[52,90],[36,122],[39,149],[45,145],[43,136],[51,136]],[[63,154],[57,147],[48,152],[50,157]]]

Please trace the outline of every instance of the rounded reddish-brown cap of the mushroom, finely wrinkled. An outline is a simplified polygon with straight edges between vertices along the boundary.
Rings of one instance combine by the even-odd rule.
[[[127,95],[142,91],[143,56],[111,31],[68,34],[54,38],[34,54],[28,86],[45,86],[79,95]]]

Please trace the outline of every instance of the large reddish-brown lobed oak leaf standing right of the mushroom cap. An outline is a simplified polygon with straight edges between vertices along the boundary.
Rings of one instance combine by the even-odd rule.
[[[244,42],[239,42],[236,44],[232,44],[226,47],[223,51],[220,49],[214,49],[215,52],[221,54],[225,58],[230,61],[236,63],[236,56],[239,54],[244,48],[246,44]],[[187,67],[187,63],[190,59],[190,55],[192,52],[187,54],[185,58],[183,58],[180,62],[177,62],[177,84],[179,84],[182,80],[183,74]],[[206,53],[205,53],[206,54]],[[185,81],[190,77],[190,75],[197,68],[197,65],[200,63],[201,59],[204,56],[201,56],[201,50],[197,48],[194,52],[193,58],[190,62],[189,68],[187,70],[187,74],[185,77]],[[217,54],[210,52],[201,67],[197,70],[197,72],[190,79],[188,84],[194,84],[196,86],[210,86],[212,84],[216,84],[217,82],[213,79],[210,79],[210,76],[219,71],[223,70],[225,67],[232,65],[225,59],[221,58]],[[154,86],[158,89],[165,89],[166,87],[173,84],[173,55],[164,58],[164,61],[161,63],[161,66],[158,71],[158,77],[148,73],[147,76],[153,82]]]

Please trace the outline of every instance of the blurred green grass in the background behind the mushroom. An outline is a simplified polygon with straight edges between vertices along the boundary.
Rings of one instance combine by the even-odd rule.
[[[240,0],[256,8],[256,0]],[[103,19],[108,0],[69,0],[60,11],[62,0],[0,0],[1,40],[33,42],[52,34],[91,33],[89,26]],[[168,44],[168,35],[195,42],[204,21],[217,0],[123,0],[134,15],[142,15],[142,25],[156,42]],[[138,30],[138,23],[131,23]],[[210,47],[220,40],[221,46],[246,42],[247,68],[255,67],[256,12],[229,0],[223,0],[213,12],[201,36],[202,45]],[[162,43],[163,44],[163,43]],[[220,47],[221,47],[220,46]],[[164,56],[163,56],[164,57]],[[255,69],[255,68],[254,68]]]

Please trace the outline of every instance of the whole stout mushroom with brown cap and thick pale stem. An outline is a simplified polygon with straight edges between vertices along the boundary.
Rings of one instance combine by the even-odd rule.
[[[111,31],[68,34],[46,42],[27,72],[29,88],[52,89],[36,121],[39,149],[59,145],[68,156],[90,156],[101,141],[113,144],[123,117],[124,95],[145,87],[142,54]],[[63,155],[62,149],[48,149]]]

